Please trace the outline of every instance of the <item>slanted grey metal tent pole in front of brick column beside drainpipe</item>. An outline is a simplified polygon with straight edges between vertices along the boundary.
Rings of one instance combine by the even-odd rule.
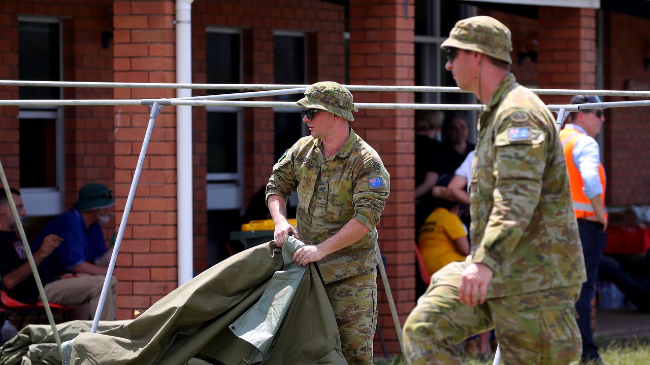
[[[115,244],[113,245],[113,253],[110,256],[109,268],[106,272],[106,277],[104,279],[104,286],[103,288],[101,288],[101,296],[99,296],[99,303],[97,304],[97,310],[95,311],[95,318],[92,321],[92,328],[90,329],[90,332],[92,333],[95,333],[97,331],[97,325],[99,323],[99,317],[101,316],[101,310],[104,308],[104,302],[106,301],[106,294],[109,291],[109,287],[110,287],[110,278],[113,276],[115,262],[118,258],[118,253],[120,252],[120,245],[122,245],[122,237],[124,236],[124,229],[126,228],[126,223],[129,220],[131,205],[133,205],[133,196],[135,195],[135,189],[138,187],[138,180],[140,180],[140,172],[142,172],[144,157],[146,157],[147,155],[147,148],[149,147],[149,140],[151,140],[151,132],[153,131],[153,125],[155,123],[156,117],[158,116],[158,114],[160,114],[161,110],[162,110],[162,105],[158,105],[158,103],[153,103],[153,105],[151,106],[151,114],[149,114],[149,124],[147,125],[147,131],[144,134],[144,140],[142,140],[142,148],[140,148],[140,156],[138,156],[138,164],[136,164],[135,173],[133,173],[133,181],[131,181],[129,196],[126,199],[126,205],[124,206],[122,221],[120,221],[120,229],[118,229],[118,235],[117,238],[115,239]]]

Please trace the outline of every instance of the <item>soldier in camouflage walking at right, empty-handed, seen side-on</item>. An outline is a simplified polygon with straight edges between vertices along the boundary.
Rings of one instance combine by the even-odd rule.
[[[510,31],[478,16],[441,45],[458,86],[487,102],[471,174],[465,262],[437,271],[404,325],[409,364],[460,364],[454,345],[496,329],[506,364],[580,358],[573,305],[584,260],[551,112],[510,73]]]

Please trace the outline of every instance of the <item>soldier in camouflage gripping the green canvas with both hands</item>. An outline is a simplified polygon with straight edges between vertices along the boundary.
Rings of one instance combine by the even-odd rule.
[[[303,266],[318,262],[343,355],[349,364],[372,364],[376,225],[389,194],[389,175],[376,151],[350,128],[357,110],[343,85],[317,82],[298,105],[311,136],[280,157],[266,185],[275,242],[281,247],[294,234],[307,244],[293,260]],[[298,192],[296,227],[286,212],[293,192]]]

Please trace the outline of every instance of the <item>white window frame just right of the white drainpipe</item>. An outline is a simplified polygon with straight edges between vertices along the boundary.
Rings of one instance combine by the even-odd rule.
[[[238,34],[239,35],[239,82],[243,77],[243,39],[239,28],[205,27],[205,32]],[[233,90],[237,92],[237,90]],[[242,108],[235,107],[206,107],[207,113],[236,113],[237,114],[237,172],[236,173],[207,173],[205,179],[207,210],[244,211],[244,113]],[[208,141],[209,143],[209,141]]]

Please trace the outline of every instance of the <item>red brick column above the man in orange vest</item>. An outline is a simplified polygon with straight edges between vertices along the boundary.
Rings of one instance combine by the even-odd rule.
[[[596,86],[594,9],[539,6],[539,88],[593,89]],[[545,96],[568,103],[568,96]]]

